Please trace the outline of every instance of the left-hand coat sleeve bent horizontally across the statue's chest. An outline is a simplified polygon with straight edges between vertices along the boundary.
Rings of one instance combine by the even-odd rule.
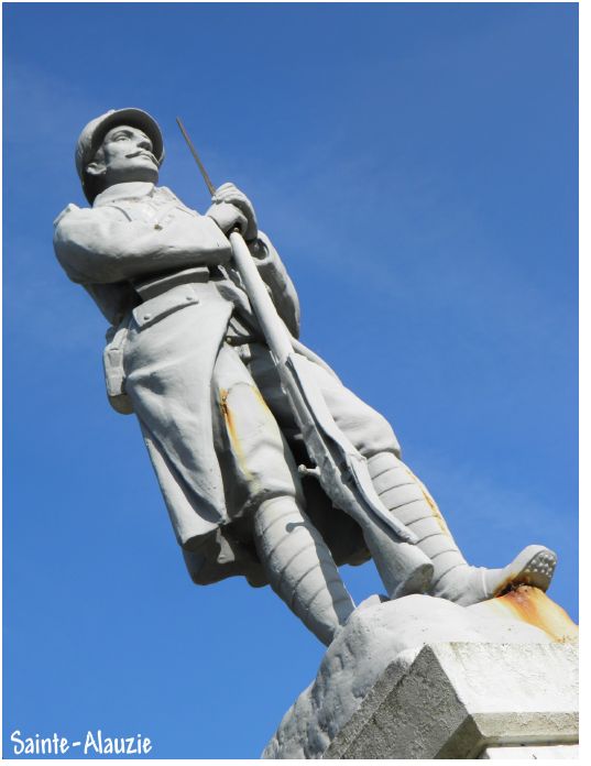
[[[171,269],[217,265],[231,256],[228,239],[205,216],[173,216],[154,226],[117,207],[68,207],[55,221],[57,260],[74,282],[110,284]]]

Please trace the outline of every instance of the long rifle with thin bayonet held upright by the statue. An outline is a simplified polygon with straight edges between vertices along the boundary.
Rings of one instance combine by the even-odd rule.
[[[176,121],[209,193],[215,196],[216,189],[191,140],[180,119]],[[300,474],[316,477],[332,504],[361,526],[391,598],[424,590],[430,581],[433,565],[416,547],[416,535],[384,507],[373,486],[366,459],[335,423],[306,361],[294,351],[292,336],[277,314],[244,239],[234,230],[229,240],[306,451],[315,463],[313,468],[299,466]]]

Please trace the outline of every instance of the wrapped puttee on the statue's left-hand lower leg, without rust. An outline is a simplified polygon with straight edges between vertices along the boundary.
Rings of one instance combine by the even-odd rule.
[[[273,590],[328,646],[354,604],[320,533],[284,496],[261,503],[254,540]]]

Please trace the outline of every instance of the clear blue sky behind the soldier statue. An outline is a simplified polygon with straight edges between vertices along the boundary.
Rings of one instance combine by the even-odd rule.
[[[393,424],[467,558],[559,555],[577,617],[574,4],[4,3],[7,734],[258,757],[321,645],[270,589],[196,588],[105,320],[53,255],[81,127],[160,121],[161,182],[253,200],[303,340]],[[51,30],[51,31],[50,31]],[[344,568],[355,600],[382,590]]]

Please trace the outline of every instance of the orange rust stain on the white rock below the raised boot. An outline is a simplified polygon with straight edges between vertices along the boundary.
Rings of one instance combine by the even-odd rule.
[[[554,641],[572,641],[579,635],[578,626],[567,612],[539,588],[519,586],[504,595],[496,597],[493,603],[508,610],[523,622],[539,627]]]

